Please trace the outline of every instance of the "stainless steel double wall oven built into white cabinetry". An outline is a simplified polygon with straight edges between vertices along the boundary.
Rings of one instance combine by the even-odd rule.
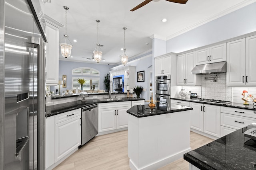
[[[156,100],[159,106],[170,103],[171,98],[171,75],[156,76]]]

